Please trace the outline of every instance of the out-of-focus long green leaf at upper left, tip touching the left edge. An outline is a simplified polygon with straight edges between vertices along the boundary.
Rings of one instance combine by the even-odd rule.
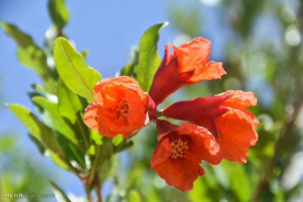
[[[46,89],[55,94],[56,81],[47,66],[43,51],[34,43],[33,39],[20,31],[15,25],[0,21],[4,31],[18,44],[17,55],[19,61],[34,70],[44,81]]]

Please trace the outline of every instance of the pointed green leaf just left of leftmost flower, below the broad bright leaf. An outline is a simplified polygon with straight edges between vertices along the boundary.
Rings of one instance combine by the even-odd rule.
[[[89,148],[89,131],[83,122],[83,106],[78,96],[71,92],[64,83],[58,81],[58,112],[61,117],[68,119],[74,126],[77,137],[84,141],[87,149]]]

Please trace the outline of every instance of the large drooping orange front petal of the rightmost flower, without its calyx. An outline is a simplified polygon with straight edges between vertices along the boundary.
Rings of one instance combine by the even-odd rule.
[[[230,109],[214,118],[220,133],[217,143],[228,161],[246,162],[248,147],[255,145],[258,134],[250,116],[238,109]]]

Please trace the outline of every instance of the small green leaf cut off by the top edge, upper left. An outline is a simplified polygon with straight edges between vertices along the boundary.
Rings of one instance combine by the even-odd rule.
[[[64,0],[48,0],[48,11],[58,30],[62,30],[68,21],[68,10]]]

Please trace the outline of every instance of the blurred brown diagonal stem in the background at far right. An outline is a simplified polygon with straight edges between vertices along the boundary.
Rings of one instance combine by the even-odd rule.
[[[255,191],[255,193],[253,194],[253,198],[252,198],[251,202],[257,202],[260,200],[260,198],[263,194],[264,188],[268,185],[268,182],[270,181],[270,178],[272,176],[272,170],[275,167],[275,165],[279,159],[279,156],[281,154],[281,151],[282,151],[285,143],[287,142],[289,136],[291,136],[291,134],[292,134],[291,132],[292,132],[293,125],[303,106],[303,98],[301,98],[299,100],[300,100],[300,102],[297,105],[297,107],[295,108],[295,112],[294,112],[291,120],[284,126],[284,129],[282,130],[282,133],[275,146],[274,156],[272,157],[271,161],[269,162],[269,164],[267,166],[267,170],[265,171],[264,175],[260,177],[260,181],[257,186],[258,188]]]

